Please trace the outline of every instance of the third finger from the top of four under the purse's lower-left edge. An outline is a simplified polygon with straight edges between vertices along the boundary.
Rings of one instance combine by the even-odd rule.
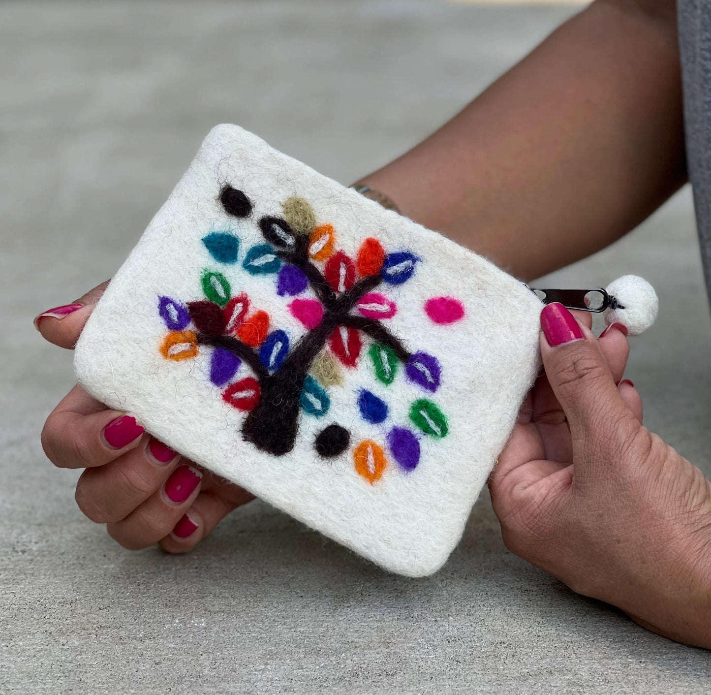
[[[129,550],[153,546],[165,538],[200,494],[202,472],[186,464],[122,521],[107,524],[113,539]]]

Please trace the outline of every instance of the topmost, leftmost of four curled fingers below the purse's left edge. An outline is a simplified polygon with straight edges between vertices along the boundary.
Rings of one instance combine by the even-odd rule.
[[[137,447],[144,431],[135,415],[107,410],[77,384],[50,413],[41,440],[55,466],[91,468]]]

